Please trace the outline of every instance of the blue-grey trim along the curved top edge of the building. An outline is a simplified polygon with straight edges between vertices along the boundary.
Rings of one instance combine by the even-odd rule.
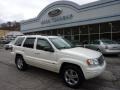
[[[45,11],[47,11],[50,7],[53,7],[53,6],[56,6],[56,5],[63,5],[63,4],[64,5],[70,5],[70,6],[73,6],[76,10],[80,11],[80,10],[83,10],[83,9],[93,8],[95,6],[100,6],[100,5],[107,4],[107,3],[110,3],[110,2],[114,2],[114,1],[119,1],[119,0],[98,0],[98,1],[91,2],[91,3],[88,3],[88,4],[84,4],[84,5],[79,5],[79,4],[77,4],[75,2],[72,2],[72,1],[56,1],[56,2],[53,2],[53,3],[49,4],[48,6],[46,6],[38,14],[37,17],[31,18],[31,19],[28,19],[28,20],[23,20],[20,23],[24,24],[24,23],[27,23],[27,22],[36,21]]]

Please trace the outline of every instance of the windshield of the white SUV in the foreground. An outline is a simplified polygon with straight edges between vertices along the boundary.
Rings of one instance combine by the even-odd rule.
[[[49,39],[57,49],[68,49],[74,47],[74,45],[70,41],[61,37],[49,38]]]

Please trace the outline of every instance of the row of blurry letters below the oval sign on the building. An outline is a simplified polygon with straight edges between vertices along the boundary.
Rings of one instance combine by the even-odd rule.
[[[73,14],[64,15],[64,16],[57,16],[57,17],[52,17],[50,19],[42,20],[41,24],[50,24],[53,22],[66,21],[66,20],[70,20],[72,18],[73,18]]]

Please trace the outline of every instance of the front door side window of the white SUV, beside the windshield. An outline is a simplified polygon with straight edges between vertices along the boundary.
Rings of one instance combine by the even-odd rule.
[[[36,49],[45,50],[45,48],[52,48],[49,42],[45,39],[38,39]]]

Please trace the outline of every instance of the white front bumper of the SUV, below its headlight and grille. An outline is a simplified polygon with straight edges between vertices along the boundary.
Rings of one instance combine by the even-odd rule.
[[[83,72],[85,79],[94,78],[100,75],[106,68],[106,62],[104,61],[103,65],[96,66],[96,67],[88,67]]]

